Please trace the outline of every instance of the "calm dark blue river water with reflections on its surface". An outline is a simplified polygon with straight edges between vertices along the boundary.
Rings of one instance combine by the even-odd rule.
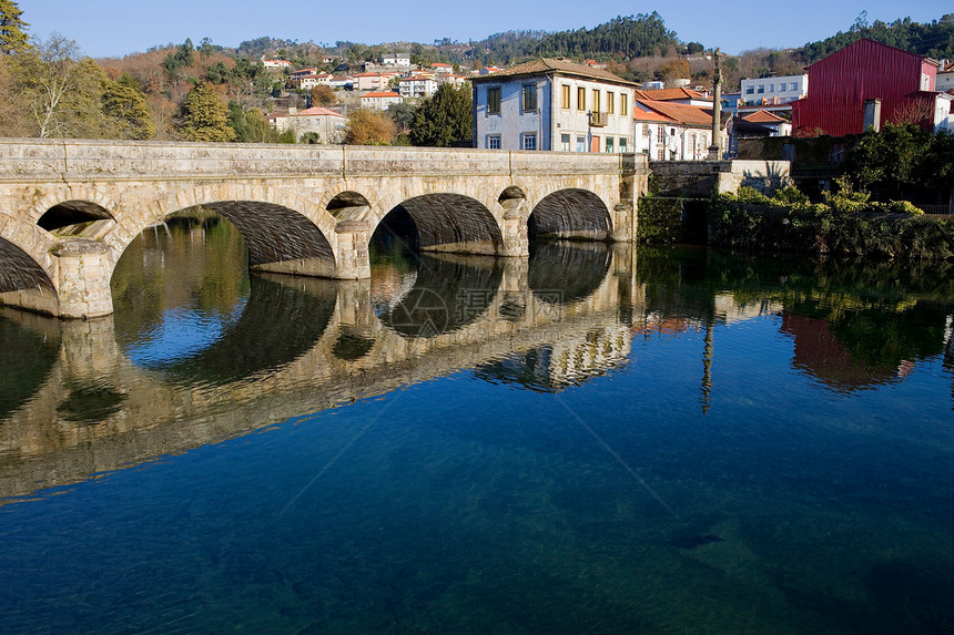
[[[950,266],[245,258],[0,311],[0,632],[954,632]]]

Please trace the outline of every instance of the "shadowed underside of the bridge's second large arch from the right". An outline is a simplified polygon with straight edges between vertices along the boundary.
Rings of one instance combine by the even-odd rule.
[[[417,227],[419,248],[425,252],[504,255],[504,233],[488,205],[463,194],[434,193],[407,198],[375,218],[402,208]]]

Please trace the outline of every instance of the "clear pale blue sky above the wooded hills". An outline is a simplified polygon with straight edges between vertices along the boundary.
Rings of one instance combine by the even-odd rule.
[[[356,0],[19,0],[32,35],[52,31],[75,40],[91,57],[122,57],[186,38],[237,47],[262,35],[300,42],[349,40],[366,44],[450,38],[466,42],[510,29],[561,31],[592,28],[619,14],[651,13],[623,2],[427,2]],[[717,9],[718,7],[718,9]],[[400,11],[396,11],[402,8]],[[740,53],[759,47],[790,48],[848,30],[862,10],[870,22],[910,16],[917,22],[954,12],[951,0],[915,2],[805,0],[803,2],[672,1],[656,6],[683,41]]]

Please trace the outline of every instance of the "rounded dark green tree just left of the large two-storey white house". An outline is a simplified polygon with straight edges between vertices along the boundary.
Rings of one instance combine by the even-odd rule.
[[[414,115],[412,145],[447,147],[470,140],[473,114],[470,90],[443,84]]]

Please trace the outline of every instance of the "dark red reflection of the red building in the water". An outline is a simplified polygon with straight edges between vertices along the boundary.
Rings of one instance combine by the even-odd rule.
[[[870,368],[852,359],[851,354],[829,330],[828,320],[793,314],[782,315],[782,331],[795,341],[792,366],[842,391],[857,390],[903,378],[911,362],[902,369]]]

